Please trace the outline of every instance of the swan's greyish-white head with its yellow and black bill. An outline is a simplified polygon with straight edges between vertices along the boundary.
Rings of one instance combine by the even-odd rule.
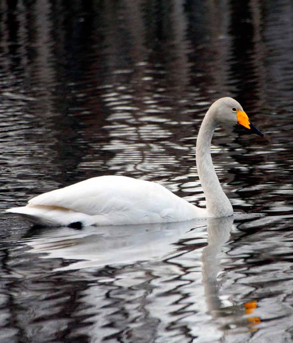
[[[222,126],[240,125],[263,137],[263,133],[251,123],[242,106],[233,98],[225,97],[216,100],[210,110],[217,124]]]

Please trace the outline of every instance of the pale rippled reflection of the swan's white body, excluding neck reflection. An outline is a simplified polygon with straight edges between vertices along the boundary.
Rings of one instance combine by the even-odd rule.
[[[31,252],[48,253],[48,258],[78,260],[62,270],[80,269],[161,259],[176,252],[173,244],[180,238],[205,237],[206,221],[194,219],[180,223],[87,226],[81,230],[42,228],[32,230],[31,234],[33,237],[22,239],[23,243],[33,248]]]

